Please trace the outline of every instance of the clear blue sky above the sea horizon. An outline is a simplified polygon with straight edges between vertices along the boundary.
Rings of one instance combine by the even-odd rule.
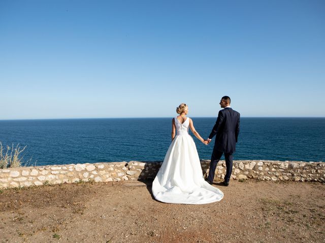
[[[325,116],[325,1],[0,0],[0,119]]]

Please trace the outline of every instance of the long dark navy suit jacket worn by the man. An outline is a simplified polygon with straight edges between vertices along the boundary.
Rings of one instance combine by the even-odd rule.
[[[236,151],[236,143],[239,135],[240,114],[231,107],[224,108],[218,113],[217,121],[210,133],[209,139],[215,135],[213,150],[224,153],[233,153]]]

